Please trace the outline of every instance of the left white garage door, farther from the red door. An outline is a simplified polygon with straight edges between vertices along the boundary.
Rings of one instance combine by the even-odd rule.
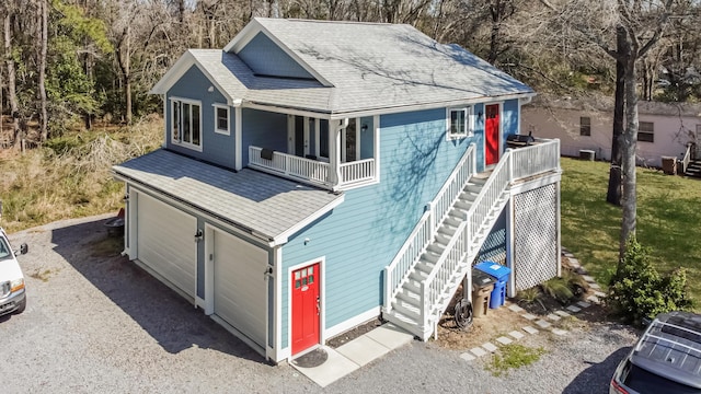
[[[194,298],[197,219],[143,193],[137,198],[138,259]]]

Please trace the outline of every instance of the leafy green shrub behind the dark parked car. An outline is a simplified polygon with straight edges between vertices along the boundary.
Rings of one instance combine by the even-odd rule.
[[[628,241],[623,260],[609,283],[609,305],[633,324],[659,313],[688,310],[687,275],[683,268],[660,276],[650,262],[650,248]]]

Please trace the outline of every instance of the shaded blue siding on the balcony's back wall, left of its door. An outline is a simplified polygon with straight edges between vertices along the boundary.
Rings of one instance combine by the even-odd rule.
[[[241,128],[243,166],[249,165],[249,146],[287,152],[287,115],[243,108]]]

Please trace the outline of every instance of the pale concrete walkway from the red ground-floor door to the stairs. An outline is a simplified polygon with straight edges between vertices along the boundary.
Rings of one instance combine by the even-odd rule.
[[[314,383],[325,387],[412,340],[414,340],[412,334],[392,323],[387,323],[336,349],[323,346],[329,358],[319,367],[302,368],[294,362],[290,364]]]

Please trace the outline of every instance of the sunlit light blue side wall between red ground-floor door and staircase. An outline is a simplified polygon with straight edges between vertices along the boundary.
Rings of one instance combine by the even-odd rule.
[[[285,275],[290,266],[325,257],[326,327],[382,303],[382,269],[472,141],[446,140],[445,108],[384,115],[380,128],[381,182],[346,192],[340,207],[283,247]],[[283,347],[288,335],[288,288],[285,277]]]

